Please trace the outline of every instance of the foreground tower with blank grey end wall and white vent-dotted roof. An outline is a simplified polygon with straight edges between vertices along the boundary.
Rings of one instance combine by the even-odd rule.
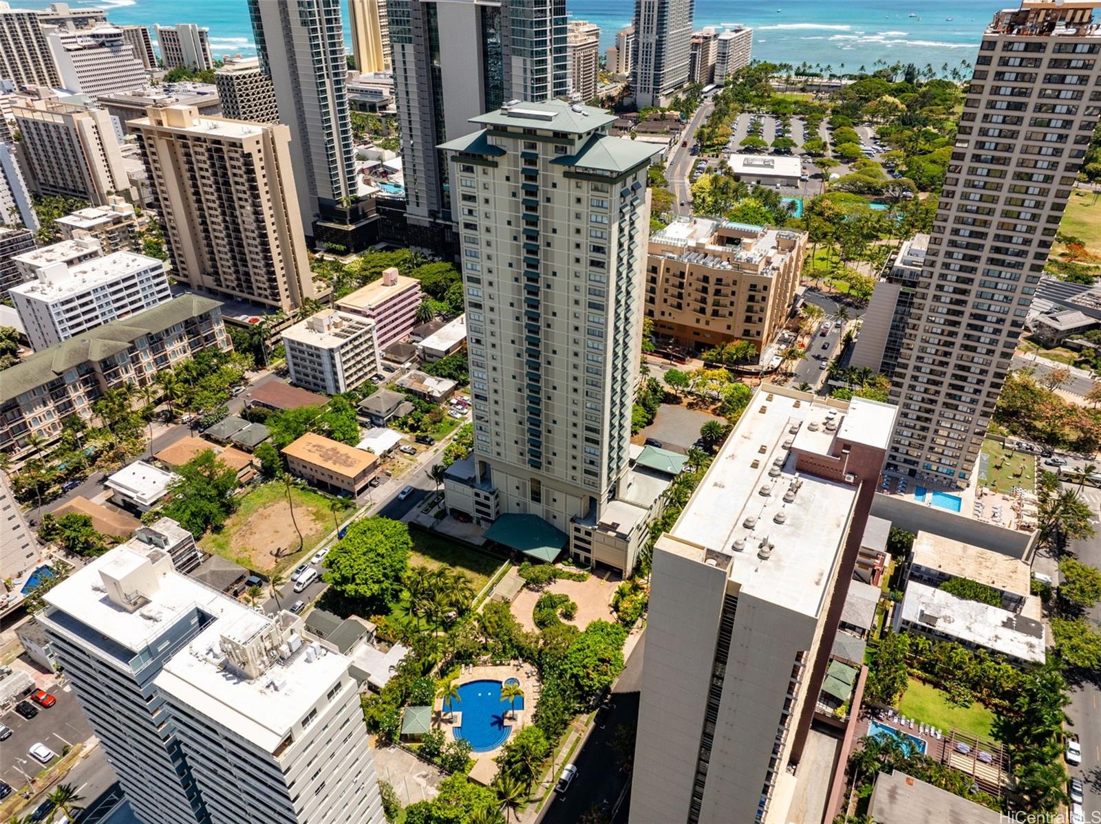
[[[895,408],[764,385],[654,549],[631,824],[787,824]]]

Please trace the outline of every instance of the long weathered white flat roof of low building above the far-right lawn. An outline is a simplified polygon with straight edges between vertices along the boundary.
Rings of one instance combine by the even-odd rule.
[[[906,585],[902,620],[1022,661],[1043,663],[1045,659],[1042,622],[914,581]]]

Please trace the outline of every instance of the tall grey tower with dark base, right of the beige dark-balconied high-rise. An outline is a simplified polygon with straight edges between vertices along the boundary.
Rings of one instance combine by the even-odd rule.
[[[306,237],[358,251],[373,201],[357,195],[340,0],[249,0],[249,13],[260,65],[291,129]]]

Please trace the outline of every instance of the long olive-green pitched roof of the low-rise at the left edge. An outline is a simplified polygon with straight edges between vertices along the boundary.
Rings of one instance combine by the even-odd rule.
[[[126,352],[139,338],[183,323],[185,320],[221,306],[198,295],[181,295],[152,309],[140,311],[122,320],[112,320],[76,338],[55,343],[28,358],[22,363],[0,372],[0,403],[19,397],[39,386],[61,377],[67,370],[81,363],[101,361]]]

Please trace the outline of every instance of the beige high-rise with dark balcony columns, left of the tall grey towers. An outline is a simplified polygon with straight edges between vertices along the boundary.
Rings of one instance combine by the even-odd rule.
[[[178,279],[290,311],[316,294],[285,125],[151,108],[131,122]]]

